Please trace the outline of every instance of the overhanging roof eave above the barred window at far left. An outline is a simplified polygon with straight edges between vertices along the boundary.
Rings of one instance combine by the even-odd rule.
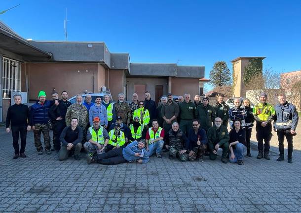
[[[0,48],[23,56],[25,61],[49,60],[52,57],[49,52],[28,43],[27,40],[15,33],[2,21],[0,21]]]

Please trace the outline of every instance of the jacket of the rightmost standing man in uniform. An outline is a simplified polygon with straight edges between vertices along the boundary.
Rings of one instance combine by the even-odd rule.
[[[298,125],[298,112],[293,104],[286,102],[284,105],[278,103],[275,107],[274,127],[276,129],[296,130]],[[292,121],[292,126],[279,126],[276,123],[288,123]]]

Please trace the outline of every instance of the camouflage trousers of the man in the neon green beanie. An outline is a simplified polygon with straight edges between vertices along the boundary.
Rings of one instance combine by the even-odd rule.
[[[36,124],[34,130],[34,137],[35,137],[35,147],[38,151],[43,150],[42,143],[41,143],[41,132],[43,133],[44,137],[44,145],[45,150],[50,150],[50,136],[49,136],[49,127],[47,124]]]

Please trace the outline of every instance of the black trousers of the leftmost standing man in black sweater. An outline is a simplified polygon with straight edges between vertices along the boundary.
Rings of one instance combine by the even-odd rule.
[[[27,135],[27,127],[11,127],[12,133],[12,146],[15,149],[15,154],[20,154],[25,152],[26,146],[26,135]],[[21,149],[19,150],[19,133],[21,138]]]

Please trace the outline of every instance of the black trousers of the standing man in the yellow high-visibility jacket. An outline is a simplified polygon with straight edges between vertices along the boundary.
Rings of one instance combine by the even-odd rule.
[[[269,151],[269,141],[272,137],[272,125],[269,123],[265,127],[262,127],[259,123],[256,124],[256,139],[258,141],[258,151],[263,152],[263,140],[264,140],[264,152]]]

